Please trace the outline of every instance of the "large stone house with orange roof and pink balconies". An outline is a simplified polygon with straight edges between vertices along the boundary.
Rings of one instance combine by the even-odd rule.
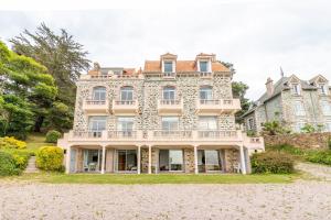
[[[77,82],[66,172],[246,173],[259,138],[236,129],[233,74],[213,54],[164,54],[145,69],[100,68]],[[249,172],[249,166],[248,166]]]

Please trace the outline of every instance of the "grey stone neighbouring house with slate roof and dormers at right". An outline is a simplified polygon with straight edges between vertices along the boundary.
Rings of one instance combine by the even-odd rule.
[[[275,120],[293,132],[301,132],[305,124],[331,131],[331,91],[325,77],[307,81],[292,75],[275,85],[268,78],[266,90],[242,117],[247,131],[260,132],[263,123]]]

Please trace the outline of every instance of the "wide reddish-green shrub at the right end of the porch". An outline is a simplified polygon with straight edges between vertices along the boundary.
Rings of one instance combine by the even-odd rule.
[[[252,156],[252,172],[255,174],[290,174],[295,172],[293,158],[279,152],[264,152]]]

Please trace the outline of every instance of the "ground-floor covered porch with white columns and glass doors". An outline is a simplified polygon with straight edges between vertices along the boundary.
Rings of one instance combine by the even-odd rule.
[[[249,163],[238,145],[73,145],[66,173],[242,173]]]

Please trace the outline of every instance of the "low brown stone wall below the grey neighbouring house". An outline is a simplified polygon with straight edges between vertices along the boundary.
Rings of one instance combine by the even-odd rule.
[[[331,139],[331,132],[265,135],[264,139],[266,145],[291,144],[302,148],[328,148],[328,140]]]

